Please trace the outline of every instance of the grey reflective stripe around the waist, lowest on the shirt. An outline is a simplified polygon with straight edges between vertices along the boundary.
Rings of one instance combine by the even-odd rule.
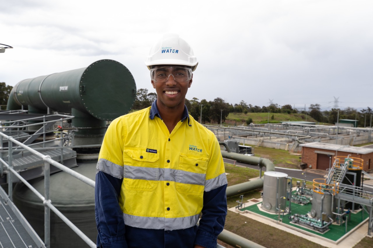
[[[178,230],[190,228],[197,224],[199,217],[199,214],[188,217],[164,218],[143,217],[123,213],[123,219],[126,225],[145,229]]]

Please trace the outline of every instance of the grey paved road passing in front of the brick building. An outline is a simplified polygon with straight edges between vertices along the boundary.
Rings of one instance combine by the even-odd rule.
[[[236,165],[241,165],[241,166],[245,166],[245,167],[248,167],[248,168],[259,170],[259,166],[257,166],[257,165],[249,165],[247,163],[235,162],[235,160],[226,159],[226,158],[223,158],[223,160],[226,163],[235,163]],[[263,167],[262,170],[266,171],[266,168]],[[324,174],[314,173],[314,172],[307,171],[307,170],[303,171],[301,169],[288,169],[288,168],[275,167],[275,171],[283,172],[283,173],[288,174],[289,177],[299,178],[299,179],[302,179],[302,180],[304,179],[304,176],[305,176],[305,179],[307,181],[310,181],[310,182],[312,182],[313,179],[315,179],[315,178],[324,178]],[[258,173],[258,176],[259,176],[259,173]],[[363,185],[363,187],[364,187],[364,190],[373,192],[373,186]]]

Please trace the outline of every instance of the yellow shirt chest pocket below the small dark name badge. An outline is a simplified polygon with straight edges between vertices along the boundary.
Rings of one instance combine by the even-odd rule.
[[[159,153],[127,147],[123,152],[123,183],[128,190],[153,191],[159,177]]]

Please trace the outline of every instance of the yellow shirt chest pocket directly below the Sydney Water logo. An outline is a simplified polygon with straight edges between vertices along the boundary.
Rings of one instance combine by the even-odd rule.
[[[202,195],[205,188],[208,158],[180,155],[176,190],[181,194]]]

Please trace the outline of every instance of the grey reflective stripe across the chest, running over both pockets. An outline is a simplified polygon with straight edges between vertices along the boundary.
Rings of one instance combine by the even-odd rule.
[[[183,184],[204,185],[206,174],[193,173],[175,169],[124,166],[124,177],[156,181],[181,182]]]

